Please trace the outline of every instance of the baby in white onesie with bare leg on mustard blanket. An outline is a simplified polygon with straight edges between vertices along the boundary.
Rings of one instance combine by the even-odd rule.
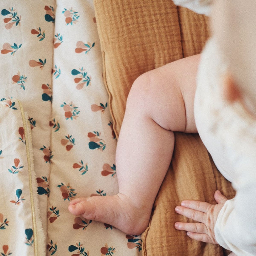
[[[176,1],[193,5],[193,0]],[[227,200],[216,191],[215,205],[183,201],[176,212],[197,223],[175,223],[175,228],[193,239],[219,243],[231,255],[256,255],[255,11],[255,0],[214,1],[213,37],[202,56],[135,80],[116,151],[119,193],[75,199],[71,213],[141,234],[170,165],[173,132],[199,132],[237,193]]]

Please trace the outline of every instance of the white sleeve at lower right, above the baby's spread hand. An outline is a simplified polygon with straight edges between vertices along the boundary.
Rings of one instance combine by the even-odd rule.
[[[233,182],[237,193],[226,201],[215,224],[217,242],[239,256],[256,255],[256,171]]]

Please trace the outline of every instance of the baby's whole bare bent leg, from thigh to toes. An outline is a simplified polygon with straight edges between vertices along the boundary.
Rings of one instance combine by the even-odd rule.
[[[170,165],[174,131],[196,132],[193,101],[199,55],[141,75],[130,90],[119,134],[119,193],[78,198],[69,211],[108,223],[127,234],[147,227],[155,197]]]

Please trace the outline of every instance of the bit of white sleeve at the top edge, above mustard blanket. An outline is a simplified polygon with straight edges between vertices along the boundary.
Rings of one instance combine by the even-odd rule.
[[[210,14],[210,3],[212,0],[173,0],[175,5],[186,7],[198,14]]]

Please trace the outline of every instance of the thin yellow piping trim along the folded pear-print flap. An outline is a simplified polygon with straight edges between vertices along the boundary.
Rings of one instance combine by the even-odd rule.
[[[30,155],[30,140],[28,138],[28,130],[27,130],[27,121],[25,117],[25,112],[23,110],[23,107],[18,101],[22,116],[22,122],[23,127],[25,131],[25,141],[26,141],[26,153],[27,153],[27,161],[28,161],[28,181],[29,181],[29,187],[30,187],[30,202],[31,202],[31,212],[32,212],[32,225],[33,225],[33,235],[34,235],[34,255],[38,255],[38,238],[37,238],[37,225],[36,225],[36,212],[35,212],[35,206],[34,206],[34,195],[33,195],[33,185],[32,185],[32,171],[31,171],[31,155]]]

